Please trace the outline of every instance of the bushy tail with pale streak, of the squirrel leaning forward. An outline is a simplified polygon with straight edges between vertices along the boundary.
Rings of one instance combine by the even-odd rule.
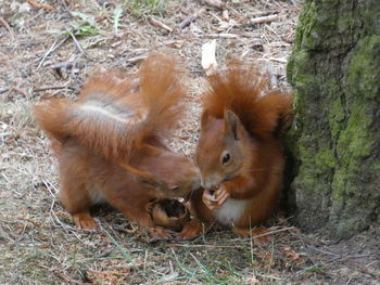
[[[173,131],[183,111],[181,75],[172,56],[152,53],[138,77],[94,75],[77,102],[41,103],[35,107],[36,119],[61,144],[74,137],[107,158],[126,159],[144,139]]]

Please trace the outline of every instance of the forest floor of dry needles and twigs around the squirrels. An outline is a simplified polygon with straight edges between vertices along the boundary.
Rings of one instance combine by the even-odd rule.
[[[192,157],[205,87],[201,46],[216,39],[218,63],[255,62],[286,83],[299,1],[228,1],[228,15],[195,0],[36,0],[52,10],[26,2],[0,5],[0,284],[380,284],[376,225],[338,242],[278,215],[264,244],[220,229],[159,241],[101,208],[99,229],[80,231],[59,202],[55,160],[33,121],[33,103],[75,98],[94,70],[135,72],[149,51],[170,49],[191,91],[173,145]],[[262,16],[267,22],[253,24]]]

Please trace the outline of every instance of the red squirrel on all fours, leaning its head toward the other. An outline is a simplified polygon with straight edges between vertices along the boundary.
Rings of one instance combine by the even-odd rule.
[[[200,186],[193,163],[164,142],[182,116],[181,74],[172,56],[152,53],[138,80],[101,73],[76,102],[35,105],[58,156],[61,202],[77,226],[94,229],[90,207],[105,200],[152,233],[170,234],[152,220],[152,200],[182,197]]]

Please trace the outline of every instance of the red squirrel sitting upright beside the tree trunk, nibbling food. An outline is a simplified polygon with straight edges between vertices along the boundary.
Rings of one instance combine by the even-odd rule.
[[[267,78],[248,64],[230,62],[208,78],[197,146],[204,191],[195,191],[197,219],[180,236],[192,238],[214,222],[242,236],[273,211],[282,187],[280,134],[292,96],[267,91]]]

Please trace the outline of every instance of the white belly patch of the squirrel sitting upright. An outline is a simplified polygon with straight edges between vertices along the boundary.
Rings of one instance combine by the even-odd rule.
[[[225,225],[231,225],[236,223],[240,217],[244,213],[246,204],[249,200],[231,199],[228,198],[219,209],[214,209],[213,213],[216,220]]]

